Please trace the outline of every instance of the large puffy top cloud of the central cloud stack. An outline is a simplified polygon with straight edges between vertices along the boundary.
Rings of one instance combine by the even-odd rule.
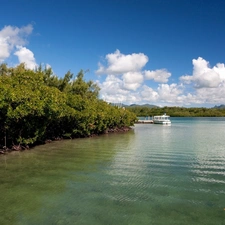
[[[120,75],[127,72],[140,71],[148,62],[148,57],[143,53],[124,55],[116,50],[106,55],[107,67],[99,63],[97,74]]]

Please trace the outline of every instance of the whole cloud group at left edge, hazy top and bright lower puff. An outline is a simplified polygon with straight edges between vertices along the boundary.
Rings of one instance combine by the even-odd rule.
[[[24,47],[27,37],[32,33],[31,24],[21,28],[5,26],[0,30],[0,63],[4,62],[11,54],[18,57],[19,62],[24,62],[28,68],[36,66],[34,54]]]

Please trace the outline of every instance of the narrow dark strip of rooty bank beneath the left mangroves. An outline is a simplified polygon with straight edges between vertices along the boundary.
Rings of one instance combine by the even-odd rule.
[[[108,133],[127,132],[127,131],[129,131],[131,129],[132,129],[131,127],[127,127],[127,126],[120,127],[120,128],[119,127],[116,127],[116,128],[108,128],[102,134],[91,134],[89,136],[82,137],[82,138],[91,138],[91,137],[96,137],[96,136],[104,135],[104,134],[108,134]],[[0,155],[4,155],[4,154],[7,154],[7,153],[10,153],[10,152],[13,152],[13,151],[29,150],[29,149],[32,149],[35,146],[38,146],[38,145],[43,145],[43,144],[51,143],[53,141],[61,141],[61,140],[65,140],[65,139],[76,139],[76,138],[71,138],[71,137],[57,137],[57,138],[48,139],[48,140],[45,140],[44,142],[36,143],[36,144],[33,144],[33,145],[21,145],[21,144],[19,144],[19,145],[12,145],[10,147],[0,146]]]

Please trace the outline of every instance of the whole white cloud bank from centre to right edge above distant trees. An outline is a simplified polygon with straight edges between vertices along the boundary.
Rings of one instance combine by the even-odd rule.
[[[172,74],[167,69],[143,70],[147,62],[148,57],[143,53],[125,55],[116,50],[106,55],[105,65],[99,63],[96,71],[98,75],[106,75],[104,82],[99,83],[102,98],[114,103],[161,106],[225,104],[223,63],[210,67],[201,57],[193,59],[192,74],[181,76],[180,82],[170,84]]]

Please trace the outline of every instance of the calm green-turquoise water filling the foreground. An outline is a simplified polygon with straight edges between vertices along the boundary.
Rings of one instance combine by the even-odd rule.
[[[225,119],[0,156],[0,224],[225,224]]]

